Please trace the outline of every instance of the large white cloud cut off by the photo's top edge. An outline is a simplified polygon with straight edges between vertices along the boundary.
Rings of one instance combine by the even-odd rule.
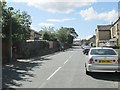
[[[28,6],[52,13],[70,13],[78,7],[89,6],[95,1],[96,0],[11,0],[11,2],[25,2]]]

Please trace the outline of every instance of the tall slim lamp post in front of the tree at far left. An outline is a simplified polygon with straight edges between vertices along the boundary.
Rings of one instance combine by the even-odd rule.
[[[9,32],[9,61],[12,62],[12,10],[13,7],[8,8],[8,13],[10,15],[9,24],[10,24],[10,32]]]

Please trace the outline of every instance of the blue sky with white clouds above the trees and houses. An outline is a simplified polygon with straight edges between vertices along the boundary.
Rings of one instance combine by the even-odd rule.
[[[41,27],[74,28],[79,39],[95,35],[97,25],[118,19],[119,0],[6,0],[8,7],[26,11],[32,19],[31,29]]]

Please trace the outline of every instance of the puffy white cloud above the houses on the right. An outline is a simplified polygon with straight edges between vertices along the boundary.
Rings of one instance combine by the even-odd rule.
[[[109,12],[98,13],[93,9],[93,7],[90,7],[86,10],[81,10],[80,15],[85,20],[102,19],[106,21],[113,21],[117,18],[118,13],[115,10],[112,10]]]

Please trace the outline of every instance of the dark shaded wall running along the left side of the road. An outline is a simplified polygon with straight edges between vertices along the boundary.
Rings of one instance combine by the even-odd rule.
[[[52,41],[30,41],[30,42],[19,42],[13,47],[16,47],[16,53],[13,53],[14,58],[25,59],[33,58],[37,56],[43,56],[51,54],[60,50],[59,42],[53,41],[52,46],[49,47]],[[68,49],[70,45],[65,44],[64,48]],[[8,43],[2,43],[2,62],[3,64],[9,62],[9,52],[8,52]],[[15,61],[15,60],[13,60]]]

